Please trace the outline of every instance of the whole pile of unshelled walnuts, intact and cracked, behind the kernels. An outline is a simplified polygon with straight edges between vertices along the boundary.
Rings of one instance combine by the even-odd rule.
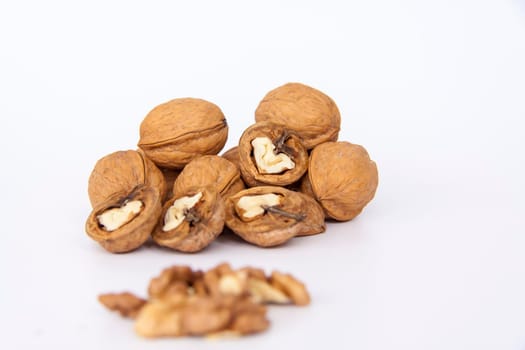
[[[374,197],[376,164],[337,141],[334,101],[299,83],[270,91],[238,146],[213,103],[178,98],[140,125],[138,150],[100,159],[89,178],[87,234],[113,253],[161,246],[197,252],[229,229],[269,247],[351,220]]]

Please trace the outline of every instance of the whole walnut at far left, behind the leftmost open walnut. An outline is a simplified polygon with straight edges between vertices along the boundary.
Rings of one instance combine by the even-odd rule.
[[[129,194],[139,185],[155,188],[165,195],[162,172],[140,151],[117,151],[101,158],[89,177],[88,195],[91,206],[97,207],[115,193]]]

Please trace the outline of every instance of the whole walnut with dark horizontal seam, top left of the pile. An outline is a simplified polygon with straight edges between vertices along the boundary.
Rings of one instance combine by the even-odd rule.
[[[140,125],[138,146],[159,167],[181,169],[193,158],[217,154],[228,137],[224,114],[215,104],[177,98],[155,107]]]

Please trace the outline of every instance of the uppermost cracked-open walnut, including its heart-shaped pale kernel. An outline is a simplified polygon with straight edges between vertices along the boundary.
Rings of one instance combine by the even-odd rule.
[[[256,123],[239,140],[239,166],[248,186],[289,185],[308,167],[308,153],[301,140],[285,126]]]

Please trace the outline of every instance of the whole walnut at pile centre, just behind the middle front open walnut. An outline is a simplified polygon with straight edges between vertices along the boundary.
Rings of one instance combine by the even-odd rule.
[[[189,188],[211,186],[223,198],[244,189],[239,169],[220,156],[202,156],[189,162],[173,185],[173,194],[186,193]]]

